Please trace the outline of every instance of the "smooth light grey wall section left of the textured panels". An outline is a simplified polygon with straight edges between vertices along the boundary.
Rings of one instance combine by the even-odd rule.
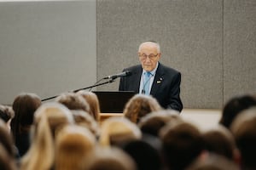
[[[0,103],[96,82],[96,1],[0,2]]]

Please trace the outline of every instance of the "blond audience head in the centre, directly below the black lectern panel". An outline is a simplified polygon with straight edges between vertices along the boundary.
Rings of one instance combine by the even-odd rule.
[[[135,123],[125,117],[110,117],[102,122],[99,143],[102,146],[111,146],[141,138],[142,133]]]

